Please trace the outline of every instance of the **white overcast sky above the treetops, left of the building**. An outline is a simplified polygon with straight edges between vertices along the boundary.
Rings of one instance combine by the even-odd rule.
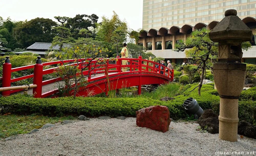
[[[0,0],[0,16],[15,21],[37,17],[54,20],[54,16],[75,17],[77,14],[96,14],[111,18],[115,11],[130,28],[142,28],[143,0]]]

